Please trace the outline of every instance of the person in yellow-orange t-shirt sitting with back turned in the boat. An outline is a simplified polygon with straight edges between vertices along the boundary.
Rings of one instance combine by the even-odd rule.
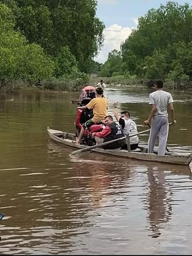
[[[79,137],[76,138],[76,143],[80,144],[85,129],[88,129],[92,124],[101,122],[106,115],[108,115],[108,101],[106,98],[102,98],[103,89],[98,87],[96,89],[97,98],[92,99],[86,106],[78,107],[78,109],[93,109],[93,118],[89,119],[82,125]]]

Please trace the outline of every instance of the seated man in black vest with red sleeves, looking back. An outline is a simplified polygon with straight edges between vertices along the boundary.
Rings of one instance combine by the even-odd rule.
[[[107,115],[103,122],[106,125],[106,128],[100,132],[93,132],[92,135],[95,137],[96,143],[101,144],[103,142],[112,141],[113,139],[119,139],[123,137],[122,128],[119,124],[113,121],[111,115]],[[124,145],[124,139],[120,141],[115,141],[110,144],[104,145],[104,149],[117,149],[121,148]]]

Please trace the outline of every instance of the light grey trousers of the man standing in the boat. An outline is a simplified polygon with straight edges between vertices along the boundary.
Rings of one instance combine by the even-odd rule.
[[[153,153],[154,144],[159,136],[158,155],[164,155],[166,151],[169,121],[167,117],[155,117],[151,121],[151,130],[148,141],[148,152]]]

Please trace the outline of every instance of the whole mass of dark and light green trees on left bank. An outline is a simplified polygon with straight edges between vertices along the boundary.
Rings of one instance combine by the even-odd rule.
[[[96,0],[2,0],[0,85],[87,79],[103,45]]]

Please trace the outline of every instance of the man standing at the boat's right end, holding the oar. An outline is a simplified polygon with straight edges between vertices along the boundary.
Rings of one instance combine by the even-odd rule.
[[[156,91],[149,95],[149,105],[151,105],[151,113],[144,124],[151,123],[150,136],[148,141],[148,152],[153,153],[154,144],[159,135],[158,155],[164,155],[166,151],[167,137],[169,134],[169,119],[167,113],[167,105],[171,111],[171,120],[174,120],[173,98],[169,92],[163,91],[163,81],[156,81]]]

